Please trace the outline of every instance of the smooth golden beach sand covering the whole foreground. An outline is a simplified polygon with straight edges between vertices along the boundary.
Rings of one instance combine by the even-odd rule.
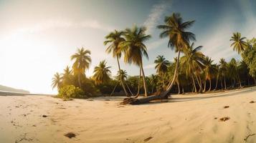
[[[246,142],[256,142],[256,103],[249,103],[256,102],[256,88],[173,98],[120,106],[118,99],[0,97],[0,142],[14,143],[24,134],[31,142],[56,143],[245,142],[255,134]],[[222,117],[230,119],[220,122]],[[69,139],[67,132],[77,137]],[[21,142],[29,142],[26,139]]]

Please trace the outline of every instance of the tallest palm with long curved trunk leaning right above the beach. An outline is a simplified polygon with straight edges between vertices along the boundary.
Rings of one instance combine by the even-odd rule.
[[[164,19],[164,25],[158,25],[158,29],[163,30],[160,34],[161,38],[169,38],[168,46],[178,52],[176,68],[174,71],[174,78],[170,81],[171,84],[167,87],[166,92],[162,94],[163,97],[171,90],[174,85],[177,76],[177,70],[179,67],[179,56],[181,51],[189,46],[191,40],[195,40],[195,36],[190,31],[186,31],[190,26],[194,24],[194,21],[185,21],[181,18],[179,13],[173,13],[171,16],[166,16]]]

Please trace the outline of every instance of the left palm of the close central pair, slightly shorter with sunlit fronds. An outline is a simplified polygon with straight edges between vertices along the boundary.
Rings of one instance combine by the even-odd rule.
[[[112,53],[113,57],[116,58],[116,60],[118,61],[118,70],[119,72],[121,72],[120,69],[120,63],[119,63],[119,59],[122,55],[122,50],[120,48],[120,42],[125,41],[125,39],[122,37],[124,35],[123,31],[113,31],[110,32],[110,34],[108,34],[107,36],[105,36],[105,39],[107,39],[106,41],[104,41],[104,45],[110,44],[108,46],[108,48],[106,49],[106,52],[108,54]],[[126,92],[125,89],[125,85],[123,84],[123,80],[120,80],[122,87],[123,87],[123,91],[125,92],[126,96],[128,96],[128,93]]]

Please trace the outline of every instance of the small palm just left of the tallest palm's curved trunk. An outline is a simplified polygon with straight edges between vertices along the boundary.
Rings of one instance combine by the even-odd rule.
[[[166,74],[166,71],[168,69],[170,62],[166,60],[163,56],[157,56],[154,63],[156,64],[155,66],[156,72],[158,73],[159,76],[162,77],[162,84],[164,89],[165,87],[164,75]]]

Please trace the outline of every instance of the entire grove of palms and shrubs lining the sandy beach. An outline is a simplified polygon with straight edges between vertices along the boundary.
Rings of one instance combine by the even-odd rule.
[[[142,104],[155,99],[166,99],[170,93],[204,93],[218,89],[234,89],[256,84],[256,39],[246,39],[236,32],[231,36],[231,46],[241,54],[242,61],[212,60],[202,53],[203,46],[195,46],[195,35],[188,31],[194,21],[184,21],[174,13],[166,16],[160,38],[168,39],[168,47],[177,54],[173,61],[157,56],[156,74],[146,77],[143,56],[148,59],[145,41],[151,38],[146,27],[133,26],[123,31],[114,30],[105,36],[106,53],[117,60],[118,74],[111,76],[110,66],[105,60],[95,67],[93,77],[87,78],[85,71],[91,64],[90,50],[81,48],[71,56],[72,69],[67,66],[63,74],[56,73],[52,87],[57,88],[59,97],[85,98],[102,95],[126,95],[124,103]],[[139,76],[128,76],[121,69],[120,59],[139,67]],[[181,57],[180,57],[181,56]],[[141,80],[142,79],[142,80]],[[253,82],[254,81],[254,82]],[[79,87],[79,88],[78,88]],[[139,95],[145,95],[138,99]],[[135,96],[134,96],[135,95]],[[151,95],[151,96],[148,96]]]

